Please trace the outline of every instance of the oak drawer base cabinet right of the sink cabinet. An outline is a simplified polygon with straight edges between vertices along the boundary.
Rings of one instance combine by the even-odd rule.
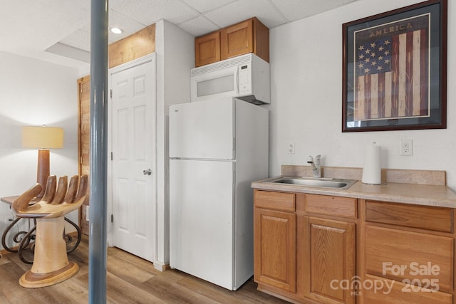
[[[455,303],[453,209],[364,203],[361,304]]]

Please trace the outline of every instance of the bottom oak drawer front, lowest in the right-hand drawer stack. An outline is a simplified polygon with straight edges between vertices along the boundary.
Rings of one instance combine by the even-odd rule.
[[[450,293],[442,293],[425,288],[417,288],[407,285],[403,282],[391,281],[378,276],[365,277],[364,282],[373,283],[372,288],[363,290],[364,303],[414,303],[414,304],[452,304],[452,295]],[[364,285],[368,285],[365,283]],[[375,287],[374,287],[375,286]],[[422,285],[423,287],[423,285]],[[378,289],[375,289],[378,288]]]

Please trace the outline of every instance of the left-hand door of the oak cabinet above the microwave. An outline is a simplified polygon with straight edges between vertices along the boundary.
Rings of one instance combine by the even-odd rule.
[[[195,38],[195,67],[220,61],[220,32]]]

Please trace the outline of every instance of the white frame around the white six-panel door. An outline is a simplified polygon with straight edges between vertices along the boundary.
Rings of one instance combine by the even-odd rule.
[[[155,125],[155,138],[157,138],[157,60],[156,60],[156,54],[155,53],[150,53],[146,56],[140,57],[138,59],[135,59],[133,61],[129,61],[128,63],[123,63],[121,65],[117,65],[113,68],[108,69],[108,88],[109,88],[109,103],[108,103],[108,168],[107,168],[107,196],[108,196],[108,221],[107,221],[107,227],[106,230],[108,231],[108,236],[107,236],[107,241],[108,241],[108,246],[113,247],[113,233],[114,233],[114,226],[113,222],[111,221],[113,216],[113,161],[110,157],[111,152],[113,152],[113,137],[112,137],[112,130],[113,130],[113,95],[111,93],[112,90],[112,83],[111,83],[111,78],[112,75],[115,73],[119,73],[122,70],[127,70],[128,68],[133,68],[137,65],[142,65],[143,63],[151,62],[153,63],[153,76],[154,76],[154,81],[152,81],[152,90],[155,92],[155,117],[152,117],[153,124]],[[110,105],[110,106],[109,106]],[[155,171],[155,189],[157,189],[157,145],[155,142],[155,159],[152,160],[152,163],[154,165],[154,171]],[[157,190],[155,191],[155,219],[154,219],[154,225],[155,225],[155,260],[157,259]]]

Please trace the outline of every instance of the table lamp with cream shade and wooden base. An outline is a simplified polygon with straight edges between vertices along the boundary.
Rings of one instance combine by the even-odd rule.
[[[46,190],[49,177],[49,149],[63,147],[63,129],[61,127],[22,127],[22,147],[38,149],[38,167],[36,182],[43,189],[36,197],[41,199]]]

